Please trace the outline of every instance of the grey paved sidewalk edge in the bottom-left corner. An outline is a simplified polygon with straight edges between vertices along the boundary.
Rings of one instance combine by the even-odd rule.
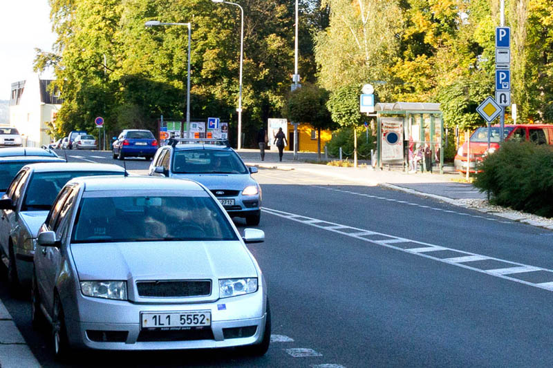
[[[0,300],[0,367],[39,368],[39,362],[30,351],[13,318]]]

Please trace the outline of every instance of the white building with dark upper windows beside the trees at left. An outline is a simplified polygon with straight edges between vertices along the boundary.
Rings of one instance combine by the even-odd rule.
[[[24,81],[12,83],[10,95],[10,126],[19,130],[23,145],[39,147],[48,145],[47,122],[54,122],[62,99],[56,90],[50,90],[52,80],[32,75]]]

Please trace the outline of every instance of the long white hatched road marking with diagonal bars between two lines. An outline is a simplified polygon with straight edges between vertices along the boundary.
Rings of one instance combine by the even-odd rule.
[[[509,277],[509,274],[514,274],[514,273],[545,271],[547,273],[550,273],[551,280],[553,280],[553,270],[551,270],[551,269],[544,269],[544,268],[541,268],[541,267],[529,266],[527,264],[512,262],[512,261],[509,261],[509,260],[502,260],[500,258],[489,257],[487,255],[480,255],[480,254],[471,253],[471,252],[467,252],[467,251],[461,251],[459,249],[447,248],[445,246],[438,246],[438,245],[435,245],[435,244],[419,242],[418,240],[409,240],[409,239],[400,238],[400,237],[397,237],[397,236],[394,236],[394,235],[378,233],[377,231],[371,231],[371,230],[367,230],[367,229],[359,229],[359,228],[356,228],[356,227],[353,227],[353,226],[347,226],[347,225],[343,225],[343,224],[337,224],[335,222],[319,220],[319,219],[316,219],[316,218],[308,217],[306,215],[301,215],[301,217],[305,218],[307,220],[299,220],[297,218],[294,218],[294,216],[298,216],[297,214],[289,213],[289,212],[285,212],[285,211],[279,211],[277,209],[264,208],[261,211],[263,211],[265,213],[269,213],[271,215],[278,216],[278,217],[283,217],[283,218],[291,220],[291,221],[300,222],[301,224],[306,224],[308,226],[317,227],[318,229],[331,231],[332,233],[345,235],[345,236],[348,236],[350,238],[355,238],[357,240],[362,240],[364,242],[376,244],[376,245],[379,245],[379,246],[385,246],[386,248],[395,249],[397,251],[401,251],[401,252],[404,252],[404,253],[410,253],[410,254],[413,254],[413,255],[418,255],[419,257],[428,258],[430,260],[435,260],[437,262],[450,264],[452,266],[461,267],[463,269],[469,269],[471,271],[475,271],[475,272],[478,272],[478,273],[485,273],[486,275],[491,275],[491,276],[494,276],[496,278],[502,278],[504,280],[517,282],[518,284],[525,284],[525,285],[530,286],[530,287],[536,287],[536,288],[544,289],[544,290],[547,290],[547,291],[553,291],[553,282],[541,282],[541,283],[540,282],[528,282],[528,281],[525,281],[525,280],[519,280],[517,278]],[[346,233],[346,232],[343,232],[343,231],[339,231],[337,229],[329,228],[328,226],[321,226],[320,224],[334,225],[334,226],[331,226],[331,227],[341,226],[340,229],[342,229],[344,227],[347,227],[348,229],[351,229],[351,230],[354,230],[354,231],[352,231],[350,233]],[[382,241],[379,241],[379,240],[371,240],[370,238],[364,238],[361,235],[356,235],[357,233],[372,233],[371,235],[382,235],[386,238],[393,238],[393,239],[397,239],[397,240],[401,239],[401,240],[403,240],[403,242],[410,242],[410,243],[414,243],[414,244],[419,244],[420,246],[418,248],[411,248],[411,249],[402,248],[401,246],[396,246],[394,244],[387,244],[386,242],[382,242]],[[462,262],[451,262],[451,258],[449,258],[449,259],[445,258],[444,259],[444,258],[438,258],[438,257],[433,256],[432,253],[434,251],[454,251],[456,253],[462,253],[466,257],[469,257],[469,258],[466,258],[466,260],[462,261]],[[462,256],[462,257],[465,257],[465,256]],[[495,260],[495,261],[498,261],[498,262],[503,262],[505,264],[511,264],[512,267],[505,267],[503,269],[485,270],[485,269],[478,269],[478,268],[472,267],[470,265],[470,263],[473,262],[474,260],[482,260],[482,258],[484,258],[485,260]],[[454,259],[455,258],[453,258],[453,260]]]

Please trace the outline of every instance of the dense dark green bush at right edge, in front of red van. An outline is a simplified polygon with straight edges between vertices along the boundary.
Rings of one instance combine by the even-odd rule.
[[[482,162],[474,186],[500,206],[553,217],[553,150],[505,142]]]

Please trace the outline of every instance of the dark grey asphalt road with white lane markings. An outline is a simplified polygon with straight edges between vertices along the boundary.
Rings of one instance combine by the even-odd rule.
[[[250,249],[268,279],[268,354],[88,352],[76,367],[553,365],[553,232],[312,173],[261,169],[256,179],[266,240]],[[28,300],[4,282],[0,298],[41,365],[58,367]]]

